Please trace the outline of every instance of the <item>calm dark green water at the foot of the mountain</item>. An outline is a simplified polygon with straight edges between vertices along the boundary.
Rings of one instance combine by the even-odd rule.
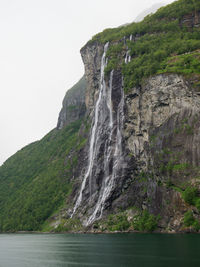
[[[0,267],[200,266],[200,235],[1,234]]]

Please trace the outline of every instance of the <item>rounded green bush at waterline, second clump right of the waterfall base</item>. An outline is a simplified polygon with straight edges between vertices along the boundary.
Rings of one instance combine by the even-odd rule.
[[[138,231],[152,232],[157,229],[160,216],[150,214],[148,211],[143,211],[133,219],[133,227]]]

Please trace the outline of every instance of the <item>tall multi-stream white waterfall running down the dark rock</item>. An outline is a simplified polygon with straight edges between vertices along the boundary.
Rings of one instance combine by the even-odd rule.
[[[101,59],[101,79],[99,96],[94,108],[93,126],[90,133],[88,165],[81,184],[71,217],[83,201],[86,185],[89,185],[90,207],[89,218],[84,222],[90,225],[102,217],[106,201],[115,189],[116,180],[123,173],[122,129],[124,121],[123,84],[113,88],[114,70],[106,85],[104,69],[107,65],[106,52],[108,43],[104,46]],[[113,91],[114,90],[114,91]],[[88,192],[88,190],[87,190]],[[85,201],[85,199],[84,199]]]

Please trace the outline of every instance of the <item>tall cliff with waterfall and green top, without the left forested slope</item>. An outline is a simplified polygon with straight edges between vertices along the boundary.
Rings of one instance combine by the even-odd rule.
[[[189,2],[180,3],[189,9]],[[89,228],[94,223],[96,228],[106,227],[108,214],[116,219],[117,214],[128,216],[130,210],[133,221],[134,216],[142,220],[145,212],[154,219],[159,215],[161,230],[189,226],[184,224],[184,214],[192,214],[193,222],[199,224],[199,71],[188,72],[194,57],[199,58],[199,43],[189,53],[184,47],[182,51],[173,47],[165,55],[160,52],[166,43],[177,42],[184,26],[188,32],[195,28],[193,33],[199,33],[198,14],[195,10],[180,14],[177,20],[167,17],[164,27],[161,9],[145,22],[150,25],[152,18],[157,19],[155,29],[146,26],[141,32],[133,24],[106,30],[82,48],[92,127],[84,159],[87,165],[77,179],[74,205],[67,216]],[[127,28],[128,36],[123,36]],[[184,42],[189,42],[183,35]],[[157,39],[163,47],[160,42],[151,43]],[[143,56],[146,61],[137,65]],[[180,70],[177,62],[185,63],[186,57],[190,65]],[[190,191],[194,199],[189,203],[185,195]],[[120,222],[116,219],[115,223]]]

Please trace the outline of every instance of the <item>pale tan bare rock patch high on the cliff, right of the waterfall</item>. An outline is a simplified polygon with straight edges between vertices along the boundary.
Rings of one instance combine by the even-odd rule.
[[[181,76],[163,74],[149,78],[141,89],[133,89],[126,97],[126,107],[125,136],[128,147],[135,157],[143,160],[145,168],[148,168],[150,163],[147,160],[149,155],[145,149],[145,143],[149,144],[150,138],[158,129],[163,128],[163,125],[167,124],[166,135],[169,135],[170,131],[178,127],[181,120],[190,121],[191,117],[198,116],[200,95],[193,91]],[[197,138],[188,140],[188,144],[196,143],[196,139],[198,139],[198,132]],[[191,143],[188,146],[189,149]],[[195,147],[198,150],[198,146],[195,145]],[[190,163],[196,164],[199,153],[196,151],[193,154]]]

